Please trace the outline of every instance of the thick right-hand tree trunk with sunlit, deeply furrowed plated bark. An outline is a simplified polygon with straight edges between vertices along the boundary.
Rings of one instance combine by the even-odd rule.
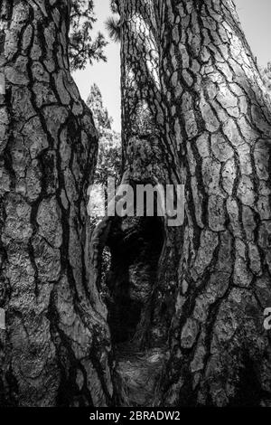
[[[269,404],[270,102],[231,1],[166,1],[162,40],[186,175],[164,402]]]

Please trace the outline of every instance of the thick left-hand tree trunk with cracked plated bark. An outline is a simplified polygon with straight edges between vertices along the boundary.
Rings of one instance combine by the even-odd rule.
[[[0,1],[0,404],[107,405],[110,340],[86,264],[98,137],[70,77],[69,0]]]

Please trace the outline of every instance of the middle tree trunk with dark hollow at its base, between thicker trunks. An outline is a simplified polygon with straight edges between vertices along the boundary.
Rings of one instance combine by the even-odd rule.
[[[123,183],[166,184],[172,173],[159,77],[157,19],[152,2],[119,2]],[[165,142],[164,142],[165,140]],[[164,367],[164,338],[152,342],[152,298],[164,249],[160,217],[111,218],[108,325],[116,355],[117,403],[151,406]]]

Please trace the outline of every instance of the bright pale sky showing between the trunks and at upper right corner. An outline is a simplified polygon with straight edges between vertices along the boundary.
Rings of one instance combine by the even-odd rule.
[[[271,0],[235,0],[240,21],[258,64],[271,61]],[[94,0],[98,17],[96,30],[107,36],[105,21],[110,16],[109,0]],[[107,37],[108,39],[108,37]],[[77,71],[73,77],[83,99],[87,99],[90,86],[96,82],[102,92],[113,127],[120,131],[120,63],[119,44],[110,42],[106,48],[107,63],[99,62]]]

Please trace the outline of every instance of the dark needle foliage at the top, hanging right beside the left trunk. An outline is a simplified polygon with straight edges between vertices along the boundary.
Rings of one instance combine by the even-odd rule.
[[[102,33],[92,37],[94,14],[93,0],[71,0],[70,10],[70,70],[82,70],[88,61],[107,61],[104,48],[107,45]]]

